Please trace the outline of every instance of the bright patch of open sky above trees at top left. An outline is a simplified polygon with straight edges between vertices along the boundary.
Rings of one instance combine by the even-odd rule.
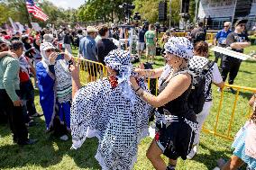
[[[65,9],[75,8],[77,9],[81,4],[84,4],[84,0],[49,0],[53,4],[57,5],[58,7],[62,7]]]

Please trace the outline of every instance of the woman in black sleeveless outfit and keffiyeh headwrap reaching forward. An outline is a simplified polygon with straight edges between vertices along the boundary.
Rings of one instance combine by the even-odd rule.
[[[158,96],[143,90],[134,78],[131,78],[131,83],[134,91],[160,113],[156,113],[156,127],[159,130],[151,142],[147,157],[156,169],[173,170],[178,157],[187,158],[198,129],[196,114],[187,102],[192,86],[187,61],[193,57],[193,46],[186,38],[171,37],[165,44],[165,52],[165,67],[135,70],[141,76],[160,77]],[[160,157],[162,154],[169,157],[168,166]]]

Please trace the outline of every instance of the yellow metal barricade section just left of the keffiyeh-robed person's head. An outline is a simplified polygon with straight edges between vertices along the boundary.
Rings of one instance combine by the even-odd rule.
[[[75,58],[78,61],[78,58]],[[106,68],[102,63],[80,58],[80,81],[82,85],[107,76]]]

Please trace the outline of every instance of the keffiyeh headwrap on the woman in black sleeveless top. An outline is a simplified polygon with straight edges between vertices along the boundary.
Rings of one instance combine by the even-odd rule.
[[[171,37],[165,43],[164,49],[170,54],[174,54],[179,58],[191,59],[193,58],[193,45],[185,37]]]

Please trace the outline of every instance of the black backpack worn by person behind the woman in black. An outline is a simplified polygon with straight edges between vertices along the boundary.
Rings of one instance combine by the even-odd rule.
[[[208,61],[206,66],[201,69],[190,69],[193,73],[193,82],[191,93],[188,96],[189,107],[198,114],[203,111],[204,104],[206,102],[205,97],[205,85],[206,85],[206,74],[209,69],[215,64],[214,61]],[[189,66],[188,66],[189,67]],[[210,88],[208,88],[210,89]]]

